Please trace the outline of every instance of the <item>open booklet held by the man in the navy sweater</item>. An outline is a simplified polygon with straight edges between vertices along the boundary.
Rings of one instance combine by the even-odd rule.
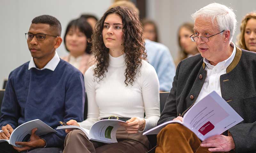
[[[36,120],[30,120],[26,123],[21,124],[17,128],[15,128],[12,131],[12,134],[10,135],[9,140],[0,140],[0,142],[8,142],[9,144],[15,146],[15,147],[22,147],[20,145],[16,145],[15,142],[22,142],[26,141],[30,138],[31,130],[33,128],[37,128],[36,135],[44,135],[47,133],[57,133],[53,128],[45,124],[43,121],[36,119]]]

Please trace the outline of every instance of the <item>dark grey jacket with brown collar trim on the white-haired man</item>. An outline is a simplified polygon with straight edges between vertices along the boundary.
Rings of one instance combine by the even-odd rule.
[[[158,125],[173,120],[194,105],[207,75],[201,55],[181,61]],[[256,53],[236,47],[236,55],[220,76],[222,98],[244,119],[230,128],[236,152],[256,152]],[[224,133],[225,135],[228,132]]]

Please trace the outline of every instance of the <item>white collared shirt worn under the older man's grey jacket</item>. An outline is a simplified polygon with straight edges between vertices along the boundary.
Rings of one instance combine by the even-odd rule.
[[[236,55],[236,46],[234,45],[234,43],[231,42],[230,46],[234,47],[232,54],[228,57],[228,59],[219,62],[215,66],[211,65],[210,62],[204,58],[205,70],[207,71],[207,75],[204,81],[203,88],[200,91],[196,102],[203,99],[212,91],[216,91],[221,97],[220,76],[223,74],[227,74],[227,67],[231,64]]]

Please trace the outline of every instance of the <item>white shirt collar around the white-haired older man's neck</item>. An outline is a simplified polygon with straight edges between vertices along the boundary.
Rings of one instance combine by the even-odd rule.
[[[217,64],[217,65],[222,65],[224,69],[227,69],[227,67],[231,64],[231,62],[234,60],[236,55],[236,46],[234,45],[234,43],[231,42],[230,46],[234,48],[232,54],[228,57],[228,59],[226,59],[225,61],[219,62]],[[204,58],[204,63],[208,67],[208,69],[213,69],[214,66],[210,64],[210,62],[206,58]]]

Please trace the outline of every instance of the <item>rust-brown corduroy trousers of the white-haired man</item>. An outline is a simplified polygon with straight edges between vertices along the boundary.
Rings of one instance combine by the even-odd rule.
[[[208,147],[200,144],[196,134],[185,126],[168,124],[157,135],[156,153],[210,153]]]

